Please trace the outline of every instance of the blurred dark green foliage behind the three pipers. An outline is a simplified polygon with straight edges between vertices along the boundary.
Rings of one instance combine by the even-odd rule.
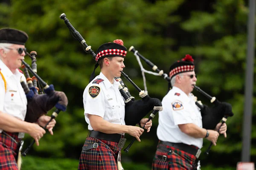
[[[245,0],[2,0],[0,28],[26,31],[28,51],[36,51],[38,74],[69,99],[67,111],[56,118],[54,136],[47,133],[40,146],[23,157],[23,170],[76,170],[88,130],[82,94],[95,62],[59,18],[67,19],[96,51],[99,45],[122,39],[168,74],[170,65],[190,54],[195,59],[197,85],[222,102],[230,102],[235,115],[227,120],[227,138],[218,138],[209,156],[201,154],[203,170],[235,170],[241,161],[242,119],[247,52],[248,2]],[[31,63],[29,57],[26,62]],[[142,61],[144,68],[150,68]],[[140,67],[133,53],[125,57],[124,72],[143,89]],[[96,75],[100,69],[96,70]],[[256,67],[254,67],[254,73]],[[137,91],[123,77],[130,92]],[[167,82],[146,74],[148,94],[163,99]],[[253,106],[256,105],[254,77]],[[198,100],[210,105],[197,91]],[[49,115],[52,112],[49,112]],[[253,110],[251,161],[256,161],[256,110]],[[150,170],[157,146],[158,117],[150,133],[122,152],[126,170]],[[132,137],[126,135],[131,142]],[[25,138],[25,147],[32,141]],[[209,141],[204,141],[203,152]],[[125,147],[126,147],[125,146]]]

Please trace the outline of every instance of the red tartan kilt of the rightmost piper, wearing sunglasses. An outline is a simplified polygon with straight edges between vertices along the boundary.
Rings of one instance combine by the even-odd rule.
[[[160,150],[160,146],[166,147],[170,151]],[[166,161],[158,158],[158,156],[163,155],[167,156]],[[192,164],[195,160],[196,157],[192,154],[158,143],[157,151],[152,163],[152,170],[192,170]]]

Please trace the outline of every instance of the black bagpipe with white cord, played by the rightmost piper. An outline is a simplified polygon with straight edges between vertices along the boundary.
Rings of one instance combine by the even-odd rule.
[[[171,79],[163,70],[157,68],[151,61],[143,57],[135,48],[131,46],[129,51],[133,52],[137,58],[142,59],[146,62],[146,64],[152,68],[152,70],[157,71],[160,76],[168,81],[169,89],[171,88]],[[221,121],[221,123],[225,123],[227,121],[227,117],[233,116],[232,106],[227,102],[219,102],[215,97],[210,96],[205,91],[201,90],[198,86],[194,85],[195,90],[206,96],[210,99],[210,102],[214,104],[213,107],[209,108],[207,105],[203,105],[200,101],[197,101],[197,97],[194,97],[195,104],[201,109],[202,115],[202,123],[203,128],[205,129],[215,129],[216,125]],[[221,125],[222,125],[221,124]],[[209,154],[209,149],[212,143],[210,144],[206,154]]]

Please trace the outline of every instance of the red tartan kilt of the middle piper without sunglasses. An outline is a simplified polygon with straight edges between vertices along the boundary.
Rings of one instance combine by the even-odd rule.
[[[98,140],[87,137],[84,146],[98,143],[97,148],[82,150],[79,160],[79,170],[117,170],[116,159],[120,147],[117,142]]]

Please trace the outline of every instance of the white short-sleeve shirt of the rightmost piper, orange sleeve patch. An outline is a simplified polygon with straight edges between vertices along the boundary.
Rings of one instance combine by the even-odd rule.
[[[186,95],[180,88],[173,87],[163,98],[163,111],[159,112],[157,137],[161,141],[203,146],[202,138],[183,133],[178,125],[193,123],[202,127],[200,109],[195,105],[192,94]]]

